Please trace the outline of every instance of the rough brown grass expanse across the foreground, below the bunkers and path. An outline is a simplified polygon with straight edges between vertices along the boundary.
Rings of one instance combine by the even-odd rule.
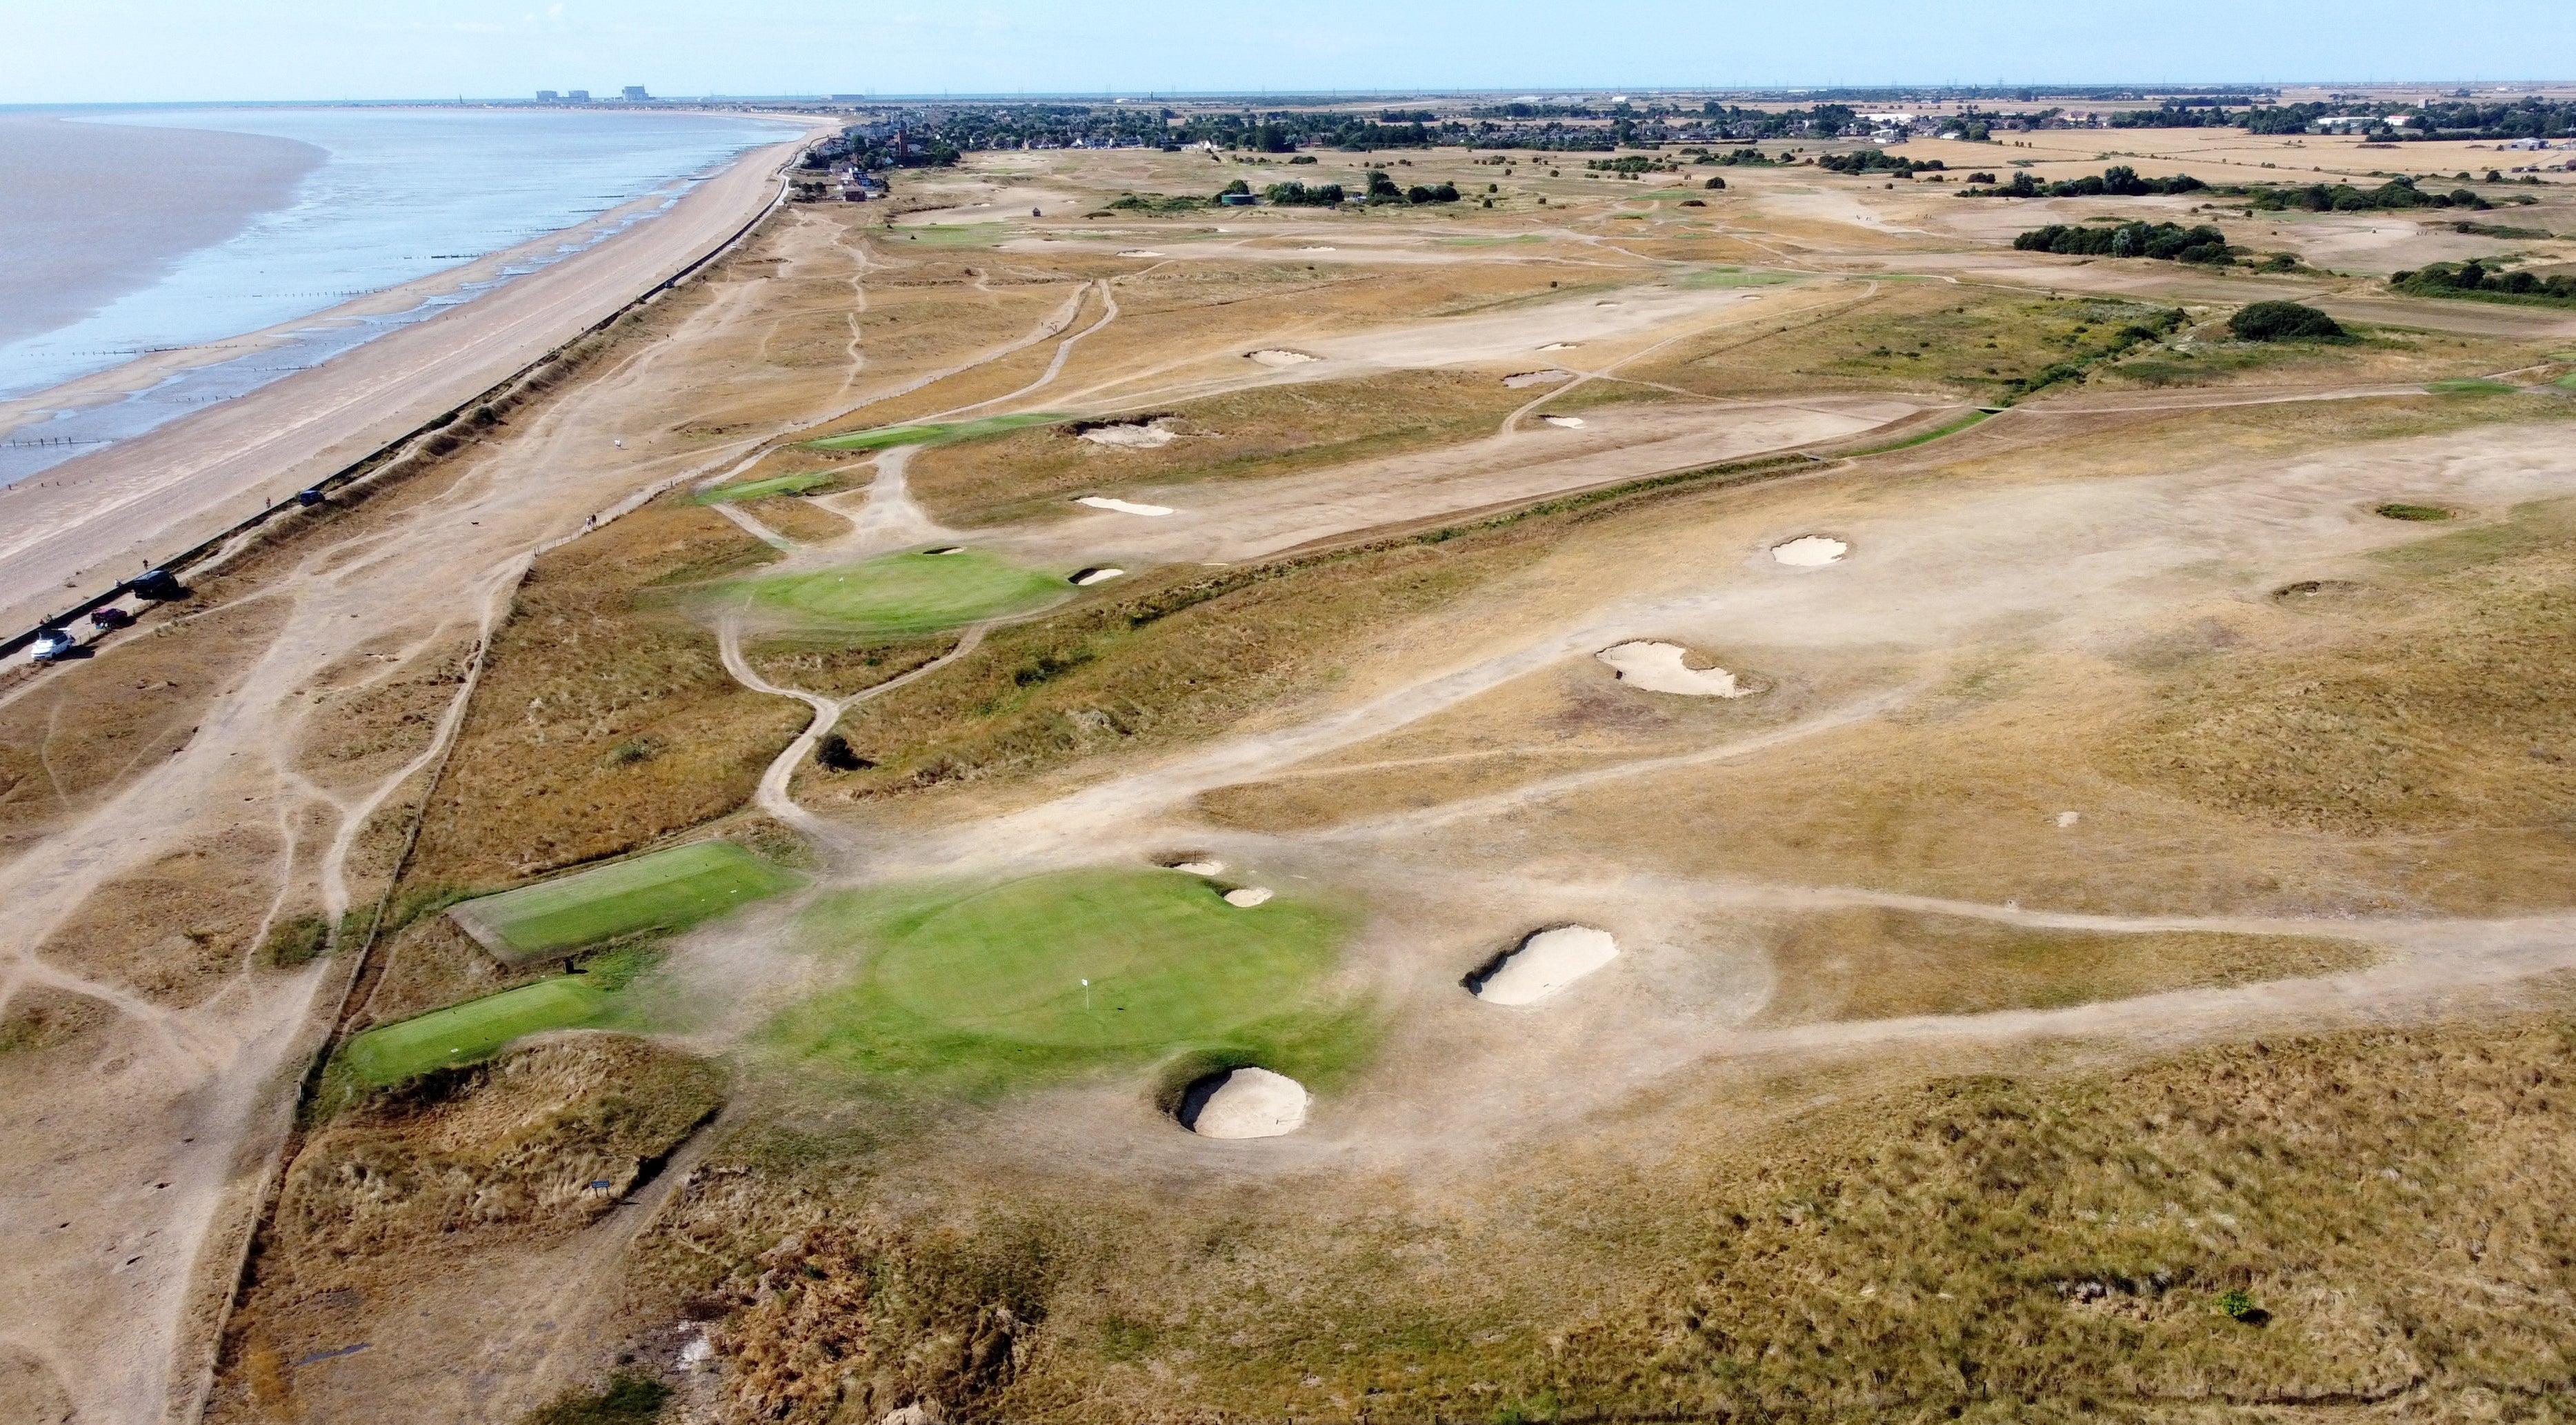
[[[1002,1191],[971,1152],[878,1191],[909,1139],[809,1139],[701,1172],[652,1260],[726,1314],[721,1420],[2532,1420],[2571,1371],[2571,1049],[2524,1013],[1718,1075],[1432,1193],[1141,1203],[1110,1165]],[[2223,1317],[2231,1288],[2267,1317]]]

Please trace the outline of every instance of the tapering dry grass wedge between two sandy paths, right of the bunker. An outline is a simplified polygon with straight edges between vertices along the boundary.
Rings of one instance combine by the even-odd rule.
[[[1777,992],[1765,1023],[2056,1010],[2378,959],[2370,946],[2303,935],[2110,935],[1904,910],[1790,920],[1770,938],[1770,956]]]

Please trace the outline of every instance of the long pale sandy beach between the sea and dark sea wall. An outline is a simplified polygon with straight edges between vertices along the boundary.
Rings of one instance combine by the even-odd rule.
[[[652,222],[240,399],[0,487],[0,621],[18,631],[90,603],[149,562],[240,526],[510,379],[757,222],[781,201],[786,165],[835,126],[809,119],[804,134],[744,149]]]

